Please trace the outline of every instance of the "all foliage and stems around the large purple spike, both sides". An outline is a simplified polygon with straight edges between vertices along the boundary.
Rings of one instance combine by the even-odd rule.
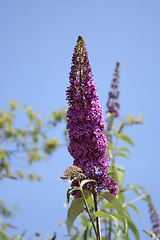
[[[119,84],[119,63],[114,77],[112,86],[117,87]],[[110,157],[110,169],[108,175],[115,179],[119,186],[118,195],[115,197],[108,191],[96,192],[94,188],[95,180],[86,178],[81,169],[75,169],[75,166],[69,167],[62,176],[62,179],[70,178],[71,186],[67,191],[67,201],[70,204],[67,214],[67,231],[71,240],[89,240],[89,239],[126,239],[129,240],[130,233],[136,240],[140,239],[136,223],[132,220],[131,210],[134,210],[139,217],[141,212],[136,206],[136,202],[143,200],[153,208],[151,199],[147,191],[142,186],[127,184],[124,185],[126,175],[125,168],[117,165],[117,159],[129,159],[131,156],[134,142],[126,134],[126,128],[138,124],[143,124],[143,116],[138,118],[130,115],[126,119],[120,119],[119,124],[115,125],[115,118],[119,116],[119,104],[117,102],[119,92],[110,92],[110,99],[107,103],[110,111],[106,114],[105,135],[108,139],[107,155]],[[116,99],[112,102],[111,100]],[[61,121],[66,122],[66,110],[53,111],[47,118],[40,118],[38,112],[34,112],[27,105],[19,105],[15,101],[8,104],[8,110],[0,111],[0,179],[9,178],[18,180],[27,177],[29,180],[41,180],[41,176],[35,173],[26,174],[23,169],[16,169],[11,164],[11,160],[18,161],[23,156],[28,165],[39,163],[50,156],[57,147],[62,144],[56,137],[50,137],[50,132],[57,127]],[[20,116],[24,126],[20,125],[18,116]],[[68,133],[65,129],[64,137],[68,143]],[[83,180],[81,180],[83,178]],[[76,180],[78,185],[74,185]],[[93,186],[85,189],[85,186]],[[136,195],[130,201],[126,200],[126,194],[132,191]],[[75,193],[80,193],[75,197]],[[74,196],[74,197],[73,197]],[[23,232],[19,236],[8,237],[6,229],[14,228],[8,221],[2,222],[12,215],[12,210],[7,209],[5,202],[0,201],[0,239],[2,240],[22,240],[25,236]],[[157,215],[156,215],[157,216]],[[79,219],[79,226],[75,226],[76,219]],[[130,231],[128,231],[130,230]],[[155,232],[144,230],[151,238],[158,239]],[[35,233],[39,239],[56,239],[56,233],[53,236],[45,236],[41,233]],[[35,239],[35,238],[34,238]]]

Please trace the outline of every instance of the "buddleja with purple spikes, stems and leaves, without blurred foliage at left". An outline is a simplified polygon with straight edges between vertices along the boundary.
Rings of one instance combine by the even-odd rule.
[[[118,166],[118,157],[129,158],[134,143],[125,134],[125,128],[142,124],[143,116],[128,116],[115,126],[119,116],[119,67],[117,63],[111,91],[107,101],[106,129],[99,104],[96,84],[93,81],[85,42],[78,37],[72,57],[72,66],[67,88],[67,130],[69,153],[73,165],[68,167],[62,179],[70,179],[67,201],[67,230],[70,239],[140,239],[136,224],[132,221],[130,209],[140,215],[135,202],[145,200],[150,205],[153,232],[144,230],[158,239],[160,221],[147,191],[142,186],[124,186],[125,169]],[[107,141],[108,140],[108,141]],[[126,144],[118,147],[119,142]],[[110,165],[110,168],[109,168]],[[137,196],[126,202],[126,193],[133,191]],[[154,215],[154,216],[153,216]],[[73,227],[79,216],[80,226]],[[157,237],[156,237],[157,236]],[[67,237],[67,236],[66,236]]]

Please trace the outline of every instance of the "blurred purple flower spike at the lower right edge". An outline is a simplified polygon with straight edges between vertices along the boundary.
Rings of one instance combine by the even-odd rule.
[[[150,196],[148,196],[150,199]],[[160,219],[158,217],[158,213],[156,212],[154,206],[149,205],[150,219],[152,222],[152,229],[154,234],[160,238]]]

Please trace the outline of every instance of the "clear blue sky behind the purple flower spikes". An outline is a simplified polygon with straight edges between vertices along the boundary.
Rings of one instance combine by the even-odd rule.
[[[0,1],[0,108],[10,99],[26,103],[46,116],[66,106],[73,49],[79,34],[86,42],[89,60],[105,112],[116,61],[120,61],[120,114],[144,114],[144,125],[128,130],[135,142],[126,183],[145,186],[159,208],[159,69],[160,1],[134,0],[28,0]],[[59,133],[59,132],[58,132]],[[59,176],[72,158],[59,149],[36,166],[43,182],[1,183],[1,196],[19,211],[13,224],[18,231],[52,233],[62,239],[66,218],[63,208],[67,183]],[[150,228],[148,208],[140,205],[143,221]],[[147,239],[141,233],[142,239]]]

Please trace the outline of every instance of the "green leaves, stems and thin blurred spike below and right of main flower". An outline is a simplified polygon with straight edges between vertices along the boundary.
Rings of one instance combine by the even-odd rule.
[[[119,64],[117,64],[117,67],[119,68]],[[116,70],[116,74],[114,76],[118,80],[114,79],[114,84],[115,82],[116,84],[119,83],[118,74],[119,71]],[[114,85],[114,89],[115,88],[118,88],[117,85]],[[119,104],[117,102],[118,96],[118,91],[114,91],[113,93],[110,92],[109,94],[110,99],[108,100],[107,106],[110,107],[110,111],[107,112],[106,116],[107,126],[105,132],[105,135],[108,138],[107,155],[110,156],[111,166],[108,174],[109,176],[113,177],[113,179],[115,179],[118,183],[118,195],[117,197],[114,197],[111,193],[104,191],[99,194],[95,194],[94,189],[88,191],[86,194],[85,190],[81,187],[80,180],[75,178],[75,180],[79,182],[79,186],[74,187],[71,184],[71,187],[67,192],[68,203],[74,191],[80,191],[81,198],[72,198],[73,200],[69,208],[66,224],[67,228],[69,226],[68,233],[70,239],[95,239],[95,237],[98,240],[131,239],[130,233],[132,232],[135,239],[139,240],[139,230],[136,226],[136,223],[134,223],[132,220],[130,210],[134,210],[139,215],[139,217],[141,217],[141,212],[135,203],[137,201],[143,200],[148,202],[150,206],[152,205],[152,202],[148,198],[148,193],[144,187],[131,184],[128,184],[126,186],[124,185],[126,171],[123,166],[118,166],[116,163],[117,158],[129,159],[131,156],[131,150],[134,147],[134,143],[131,137],[128,136],[125,132],[126,127],[143,124],[143,115],[140,115],[138,118],[130,115],[125,120],[120,119],[120,124],[115,126],[114,120],[119,116]],[[116,102],[114,102],[115,99]],[[118,147],[118,144],[120,147]],[[86,181],[90,180],[88,179]],[[134,194],[136,194],[136,197],[134,199],[131,199],[129,202],[126,201],[126,194],[128,191],[133,191]],[[81,202],[80,209],[78,208],[79,201]],[[78,203],[76,204],[76,202]],[[74,217],[72,216],[73,213],[75,213]],[[77,217],[79,218],[79,227],[74,226],[71,229],[71,226]],[[101,229],[99,218],[101,219]],[[158,239],[154,233],[147,230],[144,231],[149,236]]]

